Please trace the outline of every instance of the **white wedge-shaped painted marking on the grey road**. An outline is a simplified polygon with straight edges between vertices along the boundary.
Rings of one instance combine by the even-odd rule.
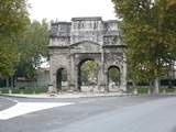
[[[18,102],[15,106],[0,111],[0,120],[9,120],[23,114],[73,105],[73,102]]]

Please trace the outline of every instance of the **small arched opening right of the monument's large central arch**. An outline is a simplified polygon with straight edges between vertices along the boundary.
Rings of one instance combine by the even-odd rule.
[[[120,68],[118,66],[108,68],[108,87],[109,89],[120,87]]]

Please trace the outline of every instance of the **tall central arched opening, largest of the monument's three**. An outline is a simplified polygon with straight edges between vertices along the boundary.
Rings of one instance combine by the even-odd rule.
[[[78,65],[78,90],[90,91],[98,85],[98,63],[84,59]]]

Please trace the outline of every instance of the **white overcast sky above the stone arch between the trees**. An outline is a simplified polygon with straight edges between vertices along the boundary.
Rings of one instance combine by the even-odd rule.
[[[111,0],[29,0],[32,20],[70,21],[73,16],[102,16],[116,19]]]

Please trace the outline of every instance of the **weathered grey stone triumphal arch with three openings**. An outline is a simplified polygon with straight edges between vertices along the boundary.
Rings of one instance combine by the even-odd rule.
[[[58,90],[59,69],[67,72],[68,90],[81,90],[80,65],[89,59],[99,64],[98,91],[109,90],[107,73],[111,66],[120,69],[120,87],[114,90],[125,90],[125,46],[117,23],[116,20],[102,21],[101,18],[73,18],[72,22],[51,24],[51,90]]]

